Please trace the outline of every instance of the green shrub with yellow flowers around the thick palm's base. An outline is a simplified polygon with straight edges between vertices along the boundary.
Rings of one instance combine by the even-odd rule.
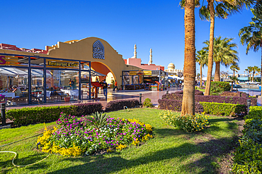
[[[198,116],[181,116],[180,113],[173,113],[172,111],[164,110],[159,113],[159,116],[169,125],[178,127],[188,133],[203,130],[208,124],[208,116],[205,116],[203,113]]]

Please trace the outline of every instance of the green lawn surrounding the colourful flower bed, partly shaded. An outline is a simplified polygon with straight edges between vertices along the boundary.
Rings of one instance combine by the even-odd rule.
[[[12,166],[13,154],[0,153],[0,173],[215,173],[221,154],[232,149],[230,142],[237,136],[237,121],[210,116],[209,128],[187,134],[164,123],[158,116],[160,111],[135,108],[108,113],[115,118],[137,118],[153,126],[154,139],[139,147],[130,146],[103,156],[70,158],[50,154],[45,161],[25,168]],[[55,122],[46,125],[52,127]],[[0,130],[0,146],[37,135],[43,130],[43,124]],[[36,139],[25,139],[1,147],[0,151],[16,151],[16,165],[35,163],[47,156],[35,149]]]

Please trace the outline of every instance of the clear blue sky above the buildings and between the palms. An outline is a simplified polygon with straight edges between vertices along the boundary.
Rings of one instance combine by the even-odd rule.
[[[174,63],[183,69],[184,11],[179,1],[1,1],[0,43],[26,49],[45,49],[46,45],[72,39],[105,39],[123,58],[133,56],[165,66]],[[209,39],[210,23],[200,20],[195,9],[195,47],[200,50]],[[250,51],[240,44],[238,32],[249,25],[251,11],[215,20],[215,37],[232,37],[238,45],[239,73],[247,66],[261,67],[261,50]],[[200,68],[197,66],[200,73]],[[221,66],[221,70],[232,72]],[[215,66],[213,68],[215,72]],[[203,70],[207,74],[207,67]]]

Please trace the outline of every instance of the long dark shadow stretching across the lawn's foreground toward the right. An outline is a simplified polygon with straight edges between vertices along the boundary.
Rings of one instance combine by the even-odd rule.
[[[142,157],[130,160],[124,159],[119,154],[112,154],[113,157],[109,158],[108,156],[89,156],[78,159],[68,158],[65,160],[72,162],[81,161],[81,163],[84,164],[55,170],[50,173],[118,173],[120,170],[135,168],[137,166],[146,165],[147,163],[166,161],[174,158],[179,159],[182,163],[183,159],[187,159],[190,155],[197,153],[205,154],[205,156],[200,159],[195,157],[197,159],[193,159],[190,163],[186,163],[181,169],[182,172],[195,173],[196,168],[198,168],[198,170],[200,170],[199,173],[215,173],[215,166],[212,165],[212,163],[215,161],[216,157],[231,151],[232,144],[229,144],[231,140],[231,138],[223,138],[212,139],[207,142],[196,144],[184,143],[178,147],[144,154]]]

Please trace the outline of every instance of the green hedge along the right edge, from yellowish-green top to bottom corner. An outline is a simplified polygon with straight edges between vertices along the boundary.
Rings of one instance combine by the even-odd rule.
[[[234,173],[262,173],[261,106],[251,106],[246,116],[243,137],[234,153]]]

